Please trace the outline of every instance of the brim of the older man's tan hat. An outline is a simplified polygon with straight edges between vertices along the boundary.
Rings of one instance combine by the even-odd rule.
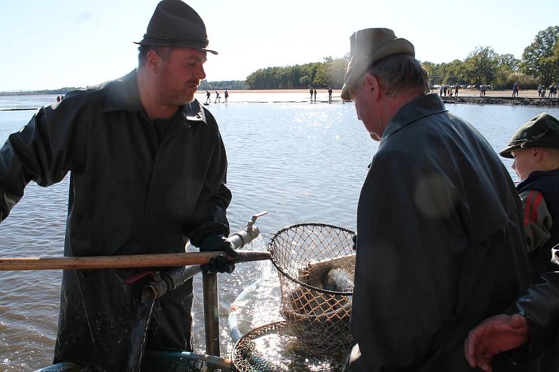
[[[365,71],[376,62],[384,59],[386,57],[395,55],[395,54],[406,54],[412,57],[415,57],[415,50],[414,45],[410,43],[405,38],[395,38],[391,40],[389,43],[382,45],[381,47],[377,48],[373,54],[370,55],[367,59],[356,59],[353,61],[353,58],[349,60],[349,64],[347,65],[347,71],[344,78],[344,85],[342,87],[342,92],[340,94],[342,100],[350,101],[351,94],[349,93],[349,89],[351,89],[352,85],[354,84],[358,75],[364,74]],[[353,62],[353,64],[352,64]],[[355,66],[355,64],[361,64],[361,66]]]

